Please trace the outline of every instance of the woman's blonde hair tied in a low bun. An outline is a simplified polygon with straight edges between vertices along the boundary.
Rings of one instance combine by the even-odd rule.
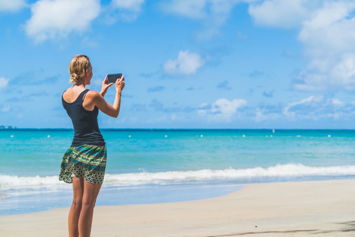
[[[88,56],[83,54],[77,54],[73,56],[69,64],[69,84],[82,79],[85,76],[86,70],[89,69],[90,65],[91,63]]]

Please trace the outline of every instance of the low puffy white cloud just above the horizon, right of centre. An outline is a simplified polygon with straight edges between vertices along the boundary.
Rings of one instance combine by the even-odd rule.
[[[209,104],[203,103],[197,109],[198,114],[201,116],[208,116],[211,120],[226,120],[230,121],[232,116],[238,111],[237,109],[246,106],[245,99],[217,99],[217,101]]]

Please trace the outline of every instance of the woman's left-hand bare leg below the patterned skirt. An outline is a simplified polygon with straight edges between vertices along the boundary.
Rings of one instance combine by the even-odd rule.
[[[73,203],[68,216],[69,237],[79,237],[78,222],[84,194],[84,179],[73,178]]]

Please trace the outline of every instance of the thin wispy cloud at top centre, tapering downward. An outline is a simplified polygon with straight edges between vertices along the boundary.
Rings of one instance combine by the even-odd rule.
[[[229,18],[231,10],[239,2],[255,0],[171,0],[162,1],[160,9],[166,14],[193,18],[203,22],[204,29],[196,34],[199,40],[210,39]]]

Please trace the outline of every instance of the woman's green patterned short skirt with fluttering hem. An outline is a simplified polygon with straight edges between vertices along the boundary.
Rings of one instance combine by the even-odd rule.
[[[75,178],[83,177],[88,183],[102,184],[106,158],[106,146],[72,146],[63,156],[59,180],[72,183],[71,177],[75,176]]]

